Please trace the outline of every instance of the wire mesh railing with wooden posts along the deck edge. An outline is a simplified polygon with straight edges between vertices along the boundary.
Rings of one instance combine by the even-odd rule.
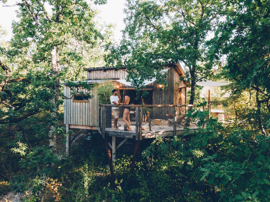
[[[197,105],[101,105],[101,130],[117,130],[135,133],[175,131],[184,127],[196,127],[198,120],[187,116],[194,109],[211,110],[211,104]],[[209,115],[207,116],[207,119]]]

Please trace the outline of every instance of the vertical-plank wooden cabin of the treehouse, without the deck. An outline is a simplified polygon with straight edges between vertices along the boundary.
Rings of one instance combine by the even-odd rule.
[[[179,62],[168,62],[164,67],[171,67],[167,73],[166,81],[168,88],[160,88],[156,81],[146,86],[145,90],[149,92],[149,99],[146,99],[144,104],[148,105],[178,105],[186,104],[186,84],[180,82],[179,78],[184,76],[183,67]],[[127,77],[126,67],[97,67],[85,68],[87,71],[86,82],[89,85],[97,84],[92,90],[92,99],[84,100],[82,95],[70,95],[69,86],[64,83],[64,95],[71,99],[64,101],[64,123],[69,125],[69,128],[84,128],[84,129],[100,129],[100,114],[99,114],[99,100],[97,98],[97,89],[105,83],[111,83],[114,88],[119,86],[119,95],[122,95],[124,89],[129,90],[130,99],[133,104],[142,104],[140,100],[135,100],[135,88],[117,82],[119,79]],[[84,89],[80,91],[86,92]],[[122,100],[122,97],[120,98]]]

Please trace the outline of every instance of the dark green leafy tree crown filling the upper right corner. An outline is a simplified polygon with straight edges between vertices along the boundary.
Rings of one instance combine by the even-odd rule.
[[[266,128],[270,113],[270,3],[237,0],[225,6],[228,8],[226,18],[208,43],[211,46],[209,58],[220,60],[226,55],[227,63],[221,73],[234,81],[227,88],[232,92],[234,104],[243,97],[244,91],[249,91],[246,106],[254,96],[257,109],[252,111],[257,127],[262,134],[270,135]]]

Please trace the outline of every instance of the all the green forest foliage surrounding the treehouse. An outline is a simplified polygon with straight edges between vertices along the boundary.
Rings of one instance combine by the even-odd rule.
[[[227,64],[218,74],[228,74],[236,81],[227,89],[233,92],[228,107],[237,115],[221,123],[205,119],[209,111],[190,110],[188,118],[196,120],[198,128],[184,128],[183,136],[141,141],[129,186],[126,179],[134,141],[128,140],[117,149],[115,190],[110,186],[104,140],[99,133],[90,141],[85,135],[78,137],[72,144],[72,156],[65,157],[65,127],[59,121],[63,114],[48,118],[54,91],[51,86],[57,79],[49,66],[52,48],[61,49],[58,76],[62,81],[83,78],[78,69],[91,64],[86,59],[92,60],[89,51],[106,41],[109,32],[105,37],[95,28],[96,12],[85,1],[48,2],[52,7],[49,18],[43,2],[27,2],[37,18],[32,18],[26,5],[20,6],[11,47],[1,43],[0,53],[11,59],[14,78],[23,76],[30,82],[8,83],[1,91],[1,101],[22,107],[12,110],[1,105],[0,118],[10,119],[35,109],[41,113],[17,124],[0,125],[0,194],[30,190],[33,195],[25,201],[37,201],[35,193],[45,184],[57,187],[57,191],[45,191],[48,202],[55,201],[51,193],[59,193],[60,201],[270,200],[268,1],[127,1],[126,37],[118,47],[109,44],[112,52],[106,62],[117,61],[119,66],[124,59],[129,78],[140,85],[156,75],[163,83],[160,69],[166,60],[183,60],[191,73],[186,79],[196,80],[207,76],[213,62],[227,54]],[[227,16],[220,22],[215,16],[224,16],[223,12]],[[205,48],[209,31],[216,31],[210,53]],[[75,47],[74,41],[83,43]],[[89,53],[87,57],[85,53]],[[5,79],[2,70],[0,79]],[[74,92],[81,92],[78,86],[89,91],[92,87],[85,82],[67,83]],[[110,103],[112,89],[110,85],[98,89],[100,103]],[[198,92],[195,88],[190,95],[194,93],[199,99]],[[220,102],[218,96],[216,100]],[[55,154],[46,146],[51,122],[58,134]]]

